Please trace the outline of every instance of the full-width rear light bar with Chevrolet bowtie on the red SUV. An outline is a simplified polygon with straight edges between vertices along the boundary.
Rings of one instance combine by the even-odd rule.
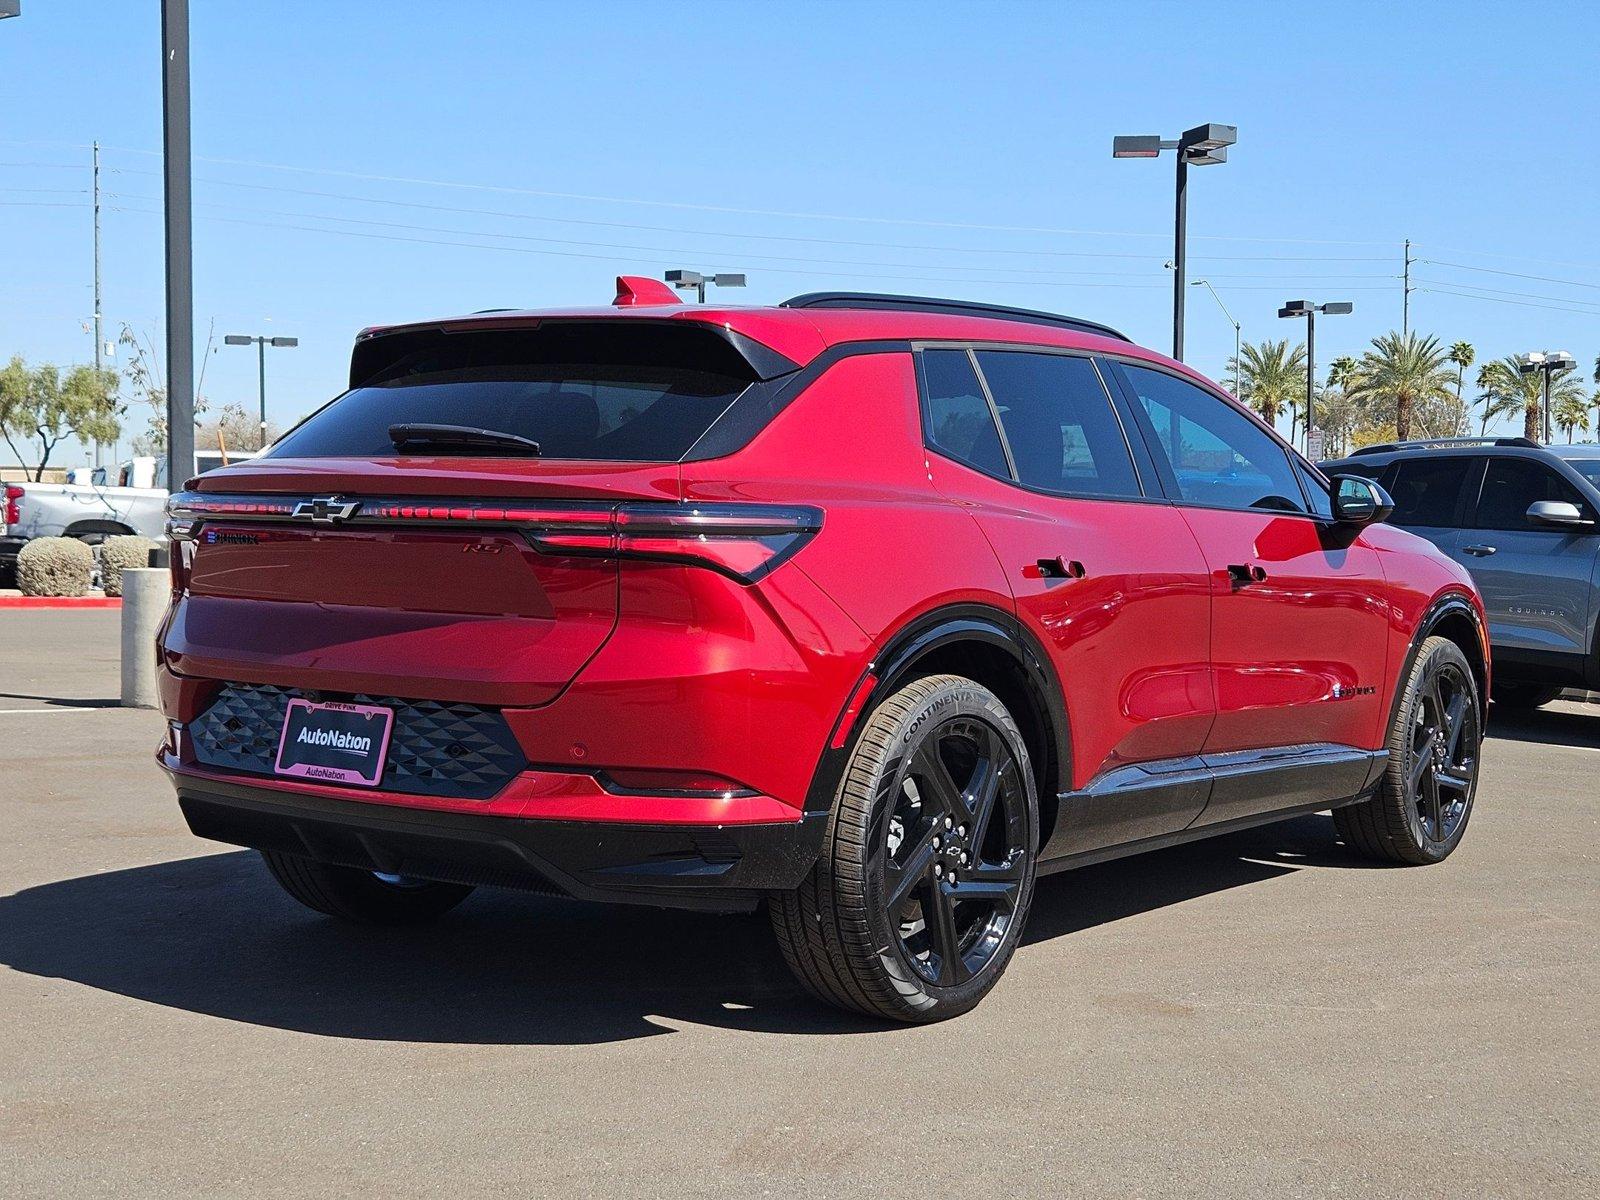
[[[650,558],[709,566],[755,582],[822,528],[821,509],[778,504],[662,504],[627,501],[523,504],[515,501],[262,498],[178,493],[166,502],[168,534],[194,539],[208,520],[290,520],[341,525],[498,525],[526,533],[550,554]]]

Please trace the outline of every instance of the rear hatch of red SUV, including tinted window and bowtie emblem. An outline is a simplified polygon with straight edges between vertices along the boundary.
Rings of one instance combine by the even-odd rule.
[[[406,331],[358,362],[267,454],[173,498],[179,674],[550,701],[616,624],[618,506],[678,501],[678,461],[757,382],[714,331],[640,320]]]

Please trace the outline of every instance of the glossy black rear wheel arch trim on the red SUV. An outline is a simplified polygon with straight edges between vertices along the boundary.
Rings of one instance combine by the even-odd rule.
[[[1045,845],[1054,827],[1059,794],[1072,776],[1072,741],[1061,680],[1032,634],[1011,613],[989,605],[950,605],[925,613],[883,643],[840,712],[806,797],[806,811],[834,803],[854,738],[874,707],[909,680],[934,674],[963,675],[982,683],[1011,712],[1034,760],[1040,845]],[[866,702],[856,706],[856,698],[869,683]]]

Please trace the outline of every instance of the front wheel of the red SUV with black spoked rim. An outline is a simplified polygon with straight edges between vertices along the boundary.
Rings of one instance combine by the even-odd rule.
[[[1344,843],[1381,862],[1450,858],[1478,790],[1483,704],[1461,648],[1430,637],[1403,682],[1389,766],[1370,800],[1333,810]]]

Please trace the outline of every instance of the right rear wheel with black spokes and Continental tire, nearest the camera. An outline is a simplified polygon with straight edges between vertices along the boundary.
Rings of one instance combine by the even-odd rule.
[[[773,931],[818,998],[942,1021],[1005,973],[1037,856],[1038,795],[1016,722],[973,680],[930,675],[862,725],[816,867],[768,904]]]

